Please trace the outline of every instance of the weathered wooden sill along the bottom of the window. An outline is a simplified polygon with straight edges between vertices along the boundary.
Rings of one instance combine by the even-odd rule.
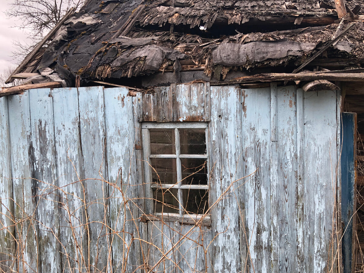
[[[203,216],[202,214],[186,214],[179,215],[178,213],[154,213],[150,215],[145,215],[146,219],[149,221],[163,221],[163,222],[179,222],[181,224],[187,225],[203,225],[211,226],[210,215]],[[203,219],[201,220],[201,218]]]

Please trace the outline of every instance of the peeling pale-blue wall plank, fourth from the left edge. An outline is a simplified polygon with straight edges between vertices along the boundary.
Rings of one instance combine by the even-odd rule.
[[[82,249],[87,247],[83,159],[80,143],[77,88],[52,91],[57,181],[60,198],[60,240],[64,272],[85,271]],[[62,113],[62,114],[61,114]]]

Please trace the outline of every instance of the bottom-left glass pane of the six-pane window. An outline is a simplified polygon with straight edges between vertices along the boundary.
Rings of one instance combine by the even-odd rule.
[[[178,213],[177,189],[153,189],[154,212]]]

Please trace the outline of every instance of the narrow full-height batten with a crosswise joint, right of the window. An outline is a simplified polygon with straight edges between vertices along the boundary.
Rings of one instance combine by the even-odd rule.
[[[270,84],[270,185],[271,185],[271,206],[270,211],[272,214],[271,223],[271,260],[272,260],[272,273],[279,272],[279,255],[278,255],[278,197],[276,191],[276,183],[278,180],[278,142],[277,142],[277,84]]]

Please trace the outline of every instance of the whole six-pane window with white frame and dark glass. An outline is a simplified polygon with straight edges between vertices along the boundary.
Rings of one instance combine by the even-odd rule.
[[[207,123],[143,123],[142,132],[148,213],[199,219],[209,208]]]

